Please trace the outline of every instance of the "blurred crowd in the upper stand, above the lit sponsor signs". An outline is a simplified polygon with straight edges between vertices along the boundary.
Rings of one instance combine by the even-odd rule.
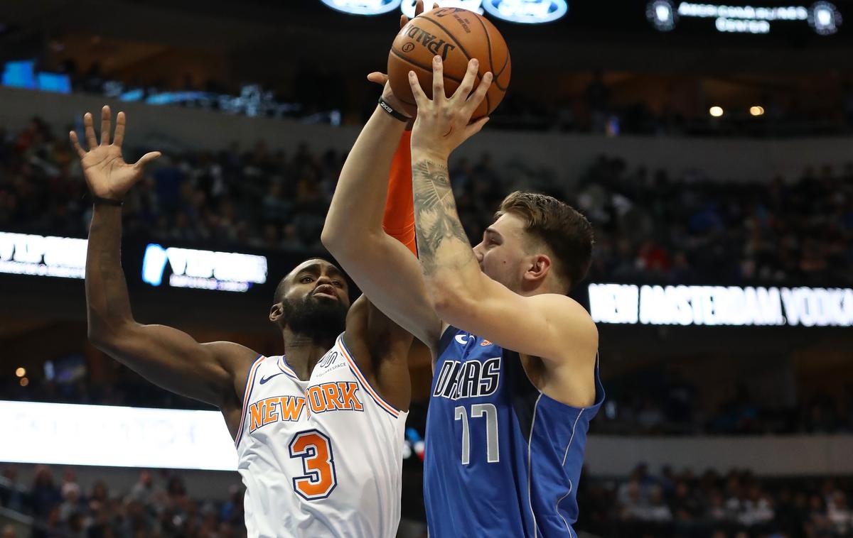
[[[139,153],[136,152],[136,155]],[[126,150],[127,160],[136,157]],[[320,249],[345,155],[232,146],[169,152],[125,202],[125,237],[234,249]],[[676,283],[853,283],[853,163],[798,178],[726,181],[598,157],[580,178],[485,154],[450,163],[461,220],[479,242],[518,186],[562,197],[595,227],[590,278]],[[0,229],[85,237],[90,203],[64,135],[38,118],[0,128]]]

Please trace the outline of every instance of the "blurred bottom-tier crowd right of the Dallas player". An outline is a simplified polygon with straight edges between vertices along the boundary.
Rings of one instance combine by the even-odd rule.
[[[853,535],[850,478],[769,479],[748,471],[658,476],[636,466],[624,481],[583,478],[578,530],[654,538],[830,538]]]

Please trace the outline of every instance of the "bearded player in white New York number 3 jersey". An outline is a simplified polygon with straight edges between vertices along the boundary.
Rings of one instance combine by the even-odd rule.
[[[269,318],[284,356],[136,322],[120,263],[121,205],[160,153],[125,163],[125,114],[116,119],[111,144],[105,106],[99,144],[85,115],[88,152],[71,133],[95,203],[85,280],[90,340],[155,385],[221,409],[246,484],[249,536],[396,535],[411,335],[365,295],[350,307],[343,274],[320,259],[300,263],[276,288]]]

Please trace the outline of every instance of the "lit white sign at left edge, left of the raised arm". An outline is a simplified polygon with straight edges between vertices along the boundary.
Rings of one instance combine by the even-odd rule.
[[[0,232],[0,273],[84,278],[85,239]]]

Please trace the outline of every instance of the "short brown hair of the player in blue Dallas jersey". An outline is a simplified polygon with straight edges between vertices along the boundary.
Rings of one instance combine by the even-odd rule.
[[[513,192],[503,199],[495,218],[511,213],[525,221],[525,232],[542,241],[554,255],[554,270],[572,290],[589,271],[594,243],[592,225],[577,209],[555,197]]]

